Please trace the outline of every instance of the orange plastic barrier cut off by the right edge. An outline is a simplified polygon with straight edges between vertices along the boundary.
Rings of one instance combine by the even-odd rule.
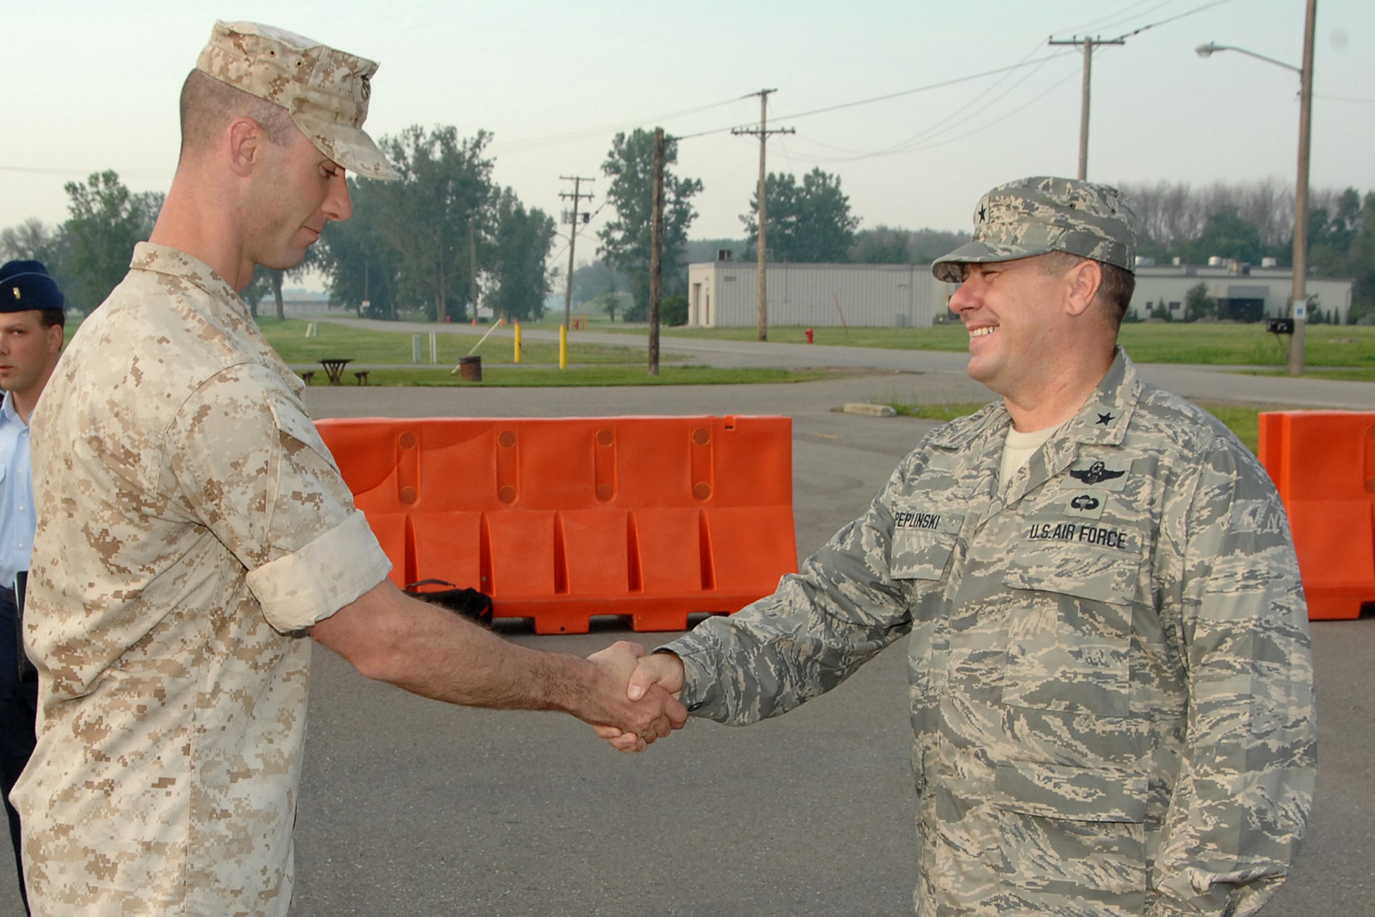
[[[1294,530],[1310,618],[1357,618],[1375,602],[1375,413],[1260,416],[1261,464]]]

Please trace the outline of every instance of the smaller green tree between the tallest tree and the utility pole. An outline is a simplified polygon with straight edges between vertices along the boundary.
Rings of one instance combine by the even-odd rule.
[[[554,220],[540,209],[527,211],[516,191],[505,189],[496,200],[496,227],[490,245],[494,289],[487,304],[506,318],[539,318],[549,295],[544,263],[554,244]]]

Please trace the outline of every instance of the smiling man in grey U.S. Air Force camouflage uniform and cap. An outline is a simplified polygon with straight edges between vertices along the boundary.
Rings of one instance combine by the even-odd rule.
[[[773,596],[631,680],[754,723],[910,633],[923,916],[1242,917],[1304,834],[1287,519],[1250,452],[1115,347],[1134,219],[1085,182],[986,194],[932,271],[960,284],[969,373],[1002,401],[927,435]]]

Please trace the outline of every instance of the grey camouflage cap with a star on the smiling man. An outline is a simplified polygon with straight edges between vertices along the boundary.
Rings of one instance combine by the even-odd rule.
[[[974,238],[931,264],[958,284],[961,264],[1068,252],[1136,271],[1136,209],[1115,187],[1062,178],[1026,178],[993,189],[974,211]]]

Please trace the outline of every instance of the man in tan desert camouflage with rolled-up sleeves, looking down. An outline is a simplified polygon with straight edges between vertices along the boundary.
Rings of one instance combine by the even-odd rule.
[[[351,212],[377,65],[217,23],[182,94],[150,242],[33,420],[26,643],[37,750],[14,800],[34,913],[285,914],[311,636],[439,699],[644,727],[626,672],[506,643],[406,598],[235,289]]]

